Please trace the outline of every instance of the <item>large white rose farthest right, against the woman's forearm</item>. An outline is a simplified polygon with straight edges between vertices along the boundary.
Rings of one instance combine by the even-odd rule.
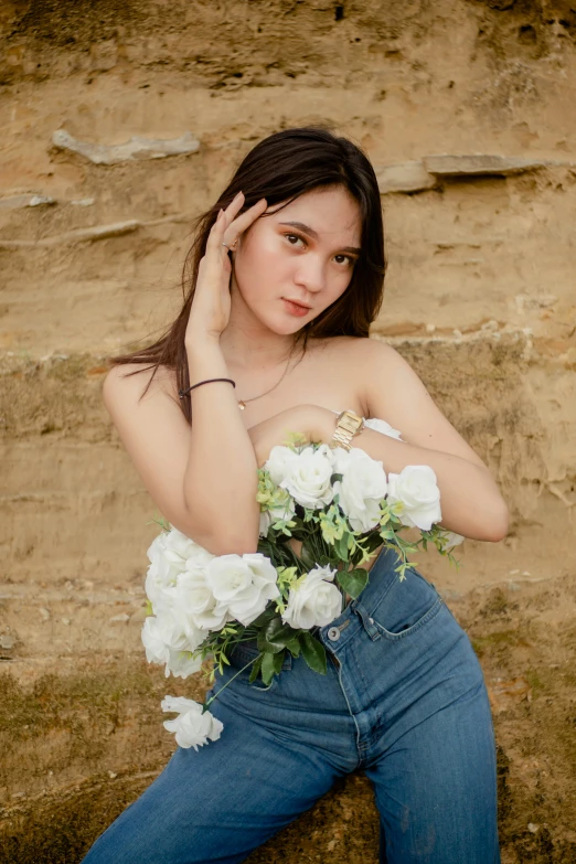
[[[409,527],[429,531],[442,518],[436,473],[428,465],[407,465],[399,474],[388,474],[387,500],[402,501],[399,520]]]

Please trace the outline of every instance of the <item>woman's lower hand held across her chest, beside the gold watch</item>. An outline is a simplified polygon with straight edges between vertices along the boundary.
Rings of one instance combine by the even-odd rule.
[[[250,426],[250,437],[258,468],[278,444],[286,444],[290,433],[301,433],[308,441],[328,442],[335,428],[335,414],[320,405],[296,405]]]

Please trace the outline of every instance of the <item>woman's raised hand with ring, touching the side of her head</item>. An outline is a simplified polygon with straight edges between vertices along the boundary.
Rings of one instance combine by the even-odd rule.
[[[200,260],[185,333],[186,343],[205,335],[220,339],[220,334],[228,323],[232,263],[226,246],[233,247],[241,234],[262,216],[267,206],[266,199],[260,199],[242,216],[237,216],[243,204],[244,195],[238,192],[226,210],[220,211],[212,225],[206,252]]]

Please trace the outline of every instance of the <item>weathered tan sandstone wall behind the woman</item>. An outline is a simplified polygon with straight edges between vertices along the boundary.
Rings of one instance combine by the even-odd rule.
[[[458,574],[422,562],[489,683],[502,860],[576,860],[575,34],[564,0],[0,0],[1,861],[78,861],[166,764],[160,698],[201,695],[143,660],[153,506],[102,406],[105,358],[170,319],[233,166],[310,122],[378,173],[374,337],[512,512]],[[135,140],[184,152],[124,158]],[[378,860],[363,777],[250,860],[334,855]]]

